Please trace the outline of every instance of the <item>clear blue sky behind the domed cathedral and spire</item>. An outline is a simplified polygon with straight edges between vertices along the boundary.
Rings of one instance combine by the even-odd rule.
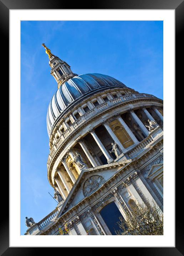
[[[107,74],[163,99],[162,21],[21,21],[21,235],[26,216],[39,222],[57,205],[46,165],[57,83],[42,43],[78,75]]]

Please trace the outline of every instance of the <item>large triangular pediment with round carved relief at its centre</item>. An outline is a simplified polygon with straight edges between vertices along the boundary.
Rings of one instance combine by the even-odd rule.
[[[77,205],[77,203],[98,190],[104,183],[111,179],[119,169],[127,166],[130,162],[132,161],[124,160],[82,170],[67,196],[66,201],[63,203],[63,206],[58,213],[58,217],[60,217],[63,212],[70,210],[73,206]]]

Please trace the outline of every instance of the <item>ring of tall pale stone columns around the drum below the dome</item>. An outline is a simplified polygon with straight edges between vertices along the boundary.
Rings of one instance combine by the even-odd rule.
[[[160,120],[163,121],[163,116],[162,114],[160,114],[160,112],[158,111],[158,109],[154,106],[152,107],[152,109],[154,110],[155,114],[157,114],[157,116],[160,118]],[[142,111],[144,112],[144,114],[146,115],[146,117],[150,120],[154,120],[154,118],[152,117],[152,115],[148,112],[148,110],[145,107],[142,107]],[[142,133],[144,134],[145,137],[148,136],[149,131],[148,129],[145,127],[145,125],[142,123],[142,121],[139,119],[139,117],[136,115],[136,113],[134,112],[133,109],[129,109],[128,110],[131,118],[134,120],[134,122],[136,122],[140,128],[140,130],[142,131]],[[121,123],[122,127],[126,130],[126,132],[128,133],[129,137],[132,139],[134,144],[138,144],[139,141],[137,140],[137,138],[134,136],[133,132],[131,131],[131,129],[128,127],[128,125],[124,122],[124,120],[122,119],[120,114],[116,115],[117,120],[119,121],[119,123]],[[109,133],[109,135],[111,136],[111,138],[113,139],[114,142],[116,142],[119,146],[119,148],[122,151],[122,156],[123,154],[125,154],[127,152],[127,148],[124,148],[122,143],[119,141],[119,139],[117,138],[116,134],[112,131],[108,119],[104,120],[102,122],[102,125],[106,128],[107,132]],[[107,159],[108,163],[111,163],[113,161],[113,158],[111,156],[111,154],[109,153],[109,151],[107,151],[107,149],[104,147],[103,143],[101,142],[101,140],[99,139],[99,137],[97,136],[96,132],[94,129],[91,129],[89,131],[89,133],[92,135],[94,141],[96,141],[98,147],[100,148],[100,150],[102,151],[102,153],[104,154],[104,156]],[[93,156],[91,155],[90,151],[88,150],[88,147],[85,144],[85,141],[80,138],[77,141],[81,148],[83,149],[83,152],[85,153],[87,159],[90,161],[90,163],[92,164],[93,167],[98,166],[98,164],[96,163],[96,160],[93,158]],[[73,155],[71,153],[71,150],[69,150],[67,153],[70,154],[72,160],[74,160]],[[71,169],[68,167],[68,164],[66,162],[66,157],[63,157],[60,162],[62,163],[63,167],[65,168],[66,172],[68,173],[68,176],[70,177],[72,183],[74,184],[76,182],[76,177],[73,174],[73,172],[71,171]],[[81,169],[76,166],[77,172],[78,174],[80,174]],[[65,200],[68,193],[70,192],[71,188],[68,186],[68,183],[66,182],[65,177],[63,176],[62,172],[60,171],[60,169],[56,169],[57,172],[57,176],[55,177],[55,182],[56,182],[56,189],[60,192],[60,194],[62,195],[63,199]]]

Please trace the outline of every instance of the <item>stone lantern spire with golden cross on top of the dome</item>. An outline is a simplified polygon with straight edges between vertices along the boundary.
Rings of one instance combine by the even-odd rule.
[[[48,54],[49,65],[51,67],[51,75],[57,82],[57,88],[60,88],[60,86],[70,78],[77,76],[77,74],[72,72],[70,65],[58,58],[56,55],[53,55],[51,50],[48,49],[44,43],[42,46],[46,49],[46,54]]]

